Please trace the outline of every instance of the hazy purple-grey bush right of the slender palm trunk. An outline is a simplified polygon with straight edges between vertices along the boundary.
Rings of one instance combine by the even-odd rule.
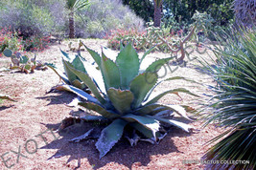
[[[76,32],[80,37],[103,38],[114,29],[137,28],[141,30],[144,22],[118,0],[90,1],[90,8],[79,12],[76,18]]]

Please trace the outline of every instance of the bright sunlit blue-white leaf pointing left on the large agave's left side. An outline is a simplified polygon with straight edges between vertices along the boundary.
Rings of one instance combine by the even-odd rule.
[[[81,96],[81,98],[86,99],[90,102],[96,103],[96,104],[101,104],[95,97],[90,96],[89,94],[87,94],[86,92],[82,91],[79,88],[76,88],[74,86],[71,85],[67,85],[64,84],[61,86],[64,90],[72,92],[74,94],[76,94],[77,96]]]

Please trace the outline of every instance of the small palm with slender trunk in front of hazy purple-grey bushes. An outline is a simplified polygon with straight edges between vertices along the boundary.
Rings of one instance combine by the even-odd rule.
[[[69,10],[69,38],[75,38],[75,12],[89,5],[88,0],[66,0],[66,8]]]

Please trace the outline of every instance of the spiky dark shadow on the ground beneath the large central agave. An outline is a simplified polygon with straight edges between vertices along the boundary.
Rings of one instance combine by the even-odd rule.
[[[46,124],[45,126],[48,129],[58,129],[59,123]],[[78,166],[75,169],[82,168],[81,159],[83,158],[88,160],[93,169],[104,167],[105,164],[110,162],[123,164],[130,169],[135,162],[141,166],[147,166],[151,162],[151,156],[153,155],[167,155],[172,152],[180,153],[175,147],[172,138],[190,136],[190,134],[180,129],[171,127],[168,135],[159,144],[139,141],[136,146],[131,147],[126,138],[121,138],[104,158],[99,159],[99,152],[95,147],[97,139],[82,140],[79,143],[69,142],[70,139],[79,137],[96,126],[97,124],[92,122],[76,123],[59,132],[59,139],[41,147],[41,149],[58,149],[56,154],[49,159],[70,156],[66,164],[72,160],[77,160]]]

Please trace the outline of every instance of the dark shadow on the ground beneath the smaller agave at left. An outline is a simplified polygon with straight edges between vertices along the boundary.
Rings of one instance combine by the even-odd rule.
[[[49,105],[54,105],[54,104],[68,104],[75,97],[76,97],[76,95],[69,93],[69,92],[54,91],[54,92],[46,93],[45,96],[39,96],[39,97],[35,97],[35,98],[36,99],[45,99],[45,100],[50,101],[50,103],[47,104],[47,106],[49,106]]]

